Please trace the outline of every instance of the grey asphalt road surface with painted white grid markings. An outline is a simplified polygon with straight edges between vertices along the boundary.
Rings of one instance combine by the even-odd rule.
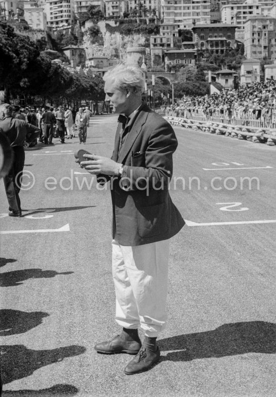
[[[127,376],[129,355],[95,352],[120,332],[111,200],[73,153],[111,156],[115,125],[95,116],[85,146],[27,149],[23,218],[7,216],[0,182],[3,396],[274,397],[276,149],[264,144],[175,128],[171,196],[187,225],[171,241],[161,361]]]

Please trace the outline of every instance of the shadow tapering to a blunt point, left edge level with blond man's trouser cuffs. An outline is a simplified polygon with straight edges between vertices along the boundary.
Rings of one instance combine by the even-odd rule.
[[[23,334],[42,324],[44,317],[49,316],[43,312],[22,312],[20,310],[0,310],[0,336]]]

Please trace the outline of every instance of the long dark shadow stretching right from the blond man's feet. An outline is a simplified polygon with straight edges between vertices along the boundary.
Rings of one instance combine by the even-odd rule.
[[[161,350],[179,350],[161,361],[191,361],[246,353],[276,353],[276,324],[249,321],[224,324],[212,331],[184,334],[158,341]]]

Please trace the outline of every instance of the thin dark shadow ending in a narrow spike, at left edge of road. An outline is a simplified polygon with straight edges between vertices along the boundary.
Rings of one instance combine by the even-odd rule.
[[[64,271],[58,273],[55,270],[42,270],[42,269],[24,269],[24,270],[13,270],[7,271],[6,273],[0,274],[0,286],[1,287],[12,287],[23,284],[22,281],[28,280],[29,278],[49,278],[55,277],[59,274],[72,274],[73,271]]]

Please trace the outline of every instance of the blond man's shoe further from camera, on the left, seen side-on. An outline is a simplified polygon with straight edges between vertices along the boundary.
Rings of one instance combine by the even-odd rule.
[[[94,349],[98,353],[103,354],[115,354],[115,353],[127,353],[137,354],[142,346],[141,341],[136,342],[134,340],[126,341],[120,335],[114,336],[107,342],[97,343]]]

